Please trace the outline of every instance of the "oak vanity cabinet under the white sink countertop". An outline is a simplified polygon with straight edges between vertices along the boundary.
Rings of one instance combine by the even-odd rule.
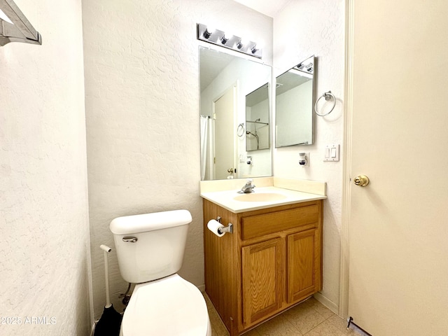
[[[206,292],[231,336],[322,289],[322,200],[238,214],[203,202]],[[233,233],[207,229],[218,216]]]

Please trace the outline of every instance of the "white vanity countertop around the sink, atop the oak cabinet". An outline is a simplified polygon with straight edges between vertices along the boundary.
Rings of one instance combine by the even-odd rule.
[[[274,186],[256,188],[254,193],[239,194],[237,190],[223,190],[223,191],[208,191],[201,193],[201,197],[218,204],[220,207],[228,209],[235,214],[244,211],[252,211],[258,209],[266,209],[270,207],[278,207],[280,205],[294,204],[300,202],[309,202],[314,200],[325,200],[325,195],[318,195],[314,193],[304,193],[297,190],[289,190],[285,188],[278,188]],[[246,202],[235,200],[235,197],[251,197],[251,194],[279,194],[281,200],[269,200],[264,202]],[[254,195],[255,196],[255,195]],[[284,198],[283,198],[284,196]],[[275,198],[275,197],[274,197]],[[244,200],[244,199],[243,199]]]

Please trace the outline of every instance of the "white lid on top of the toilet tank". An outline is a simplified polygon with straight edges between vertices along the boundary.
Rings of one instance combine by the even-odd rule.
[[[115,235],[128,235],[130,233],[174,228],[175,226],[190,224],[191,221],[190,211],[173,210],[118,217],[111,221],[109,228]]]

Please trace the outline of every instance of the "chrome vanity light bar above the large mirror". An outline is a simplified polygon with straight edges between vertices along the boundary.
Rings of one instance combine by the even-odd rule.
[[[201,23],[197,24],[197,39],[215,45],[220,45],[221,47],[229,48],[238,52],[243,52],[244,54],[251,55],[253,57],[262,57],[262,49],[257,47],[257,43],[245,41],[239,36],[225,33],[224,31],[218,29],[211,29]]]

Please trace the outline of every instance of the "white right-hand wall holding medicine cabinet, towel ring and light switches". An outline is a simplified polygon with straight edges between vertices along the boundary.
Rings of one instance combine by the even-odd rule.
[[[323,162],[324,148],[343,140],[344,106],[343,0],[290,1],[274,17],[274,75],[288,70],[311,55],[317,57],[316,98],[331,90],[335,111],[315,116],[315,143],[274,150],[274,176],[327,182],[324,202],[323,290],[321,299],[337,311],[339,304],[339,255],[342,209],[342,158]],[[298,153],[309,152],[309,167],[300,167]]]

